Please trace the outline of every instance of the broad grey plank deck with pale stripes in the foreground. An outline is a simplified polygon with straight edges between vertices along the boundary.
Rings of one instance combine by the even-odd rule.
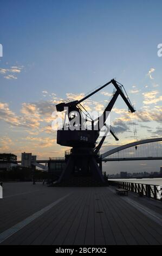
[[[162,203],[131,192],[18,182],[3,196],[1,245],[162,245]]]

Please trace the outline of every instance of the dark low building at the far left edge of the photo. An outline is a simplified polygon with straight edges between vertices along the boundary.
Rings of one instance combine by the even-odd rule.
[[[11,170],[17,166],[17,156],[14,154],[0,154],[0,171]]]

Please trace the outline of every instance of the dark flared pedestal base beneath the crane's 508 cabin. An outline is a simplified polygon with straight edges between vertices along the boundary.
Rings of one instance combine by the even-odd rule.
[[[70,181],[73,183],[79,179],[93,180],[98,184],[105,183],[101,159],[99,155],[94,154],[91,148],[73,148],[69,154],[66,154],[66,167],[58,182]]]

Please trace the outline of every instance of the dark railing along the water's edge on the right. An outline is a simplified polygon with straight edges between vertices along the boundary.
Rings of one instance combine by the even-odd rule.
[[[124,188],[125,190],[138,193],[140,196],[154,198],[155,200],[162,200],[162,196],[159,194],[161,192],[158,190],[159,185],[141,184],[141,183],[135,183],[135,182],[126,182],[126,181],[112,181],[112,180],[108,180],[108,182],[109,182],[109,185]]]

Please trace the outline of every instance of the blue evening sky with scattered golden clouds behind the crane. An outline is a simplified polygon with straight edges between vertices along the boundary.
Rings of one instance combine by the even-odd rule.
[[[135,114],[119,98],[111,124],[119,142],[106,138],[101,153],[136,139],[161,137],[162,2],[127,0],[0,1],[0,151],[63,156],[51,129],[54,106],[80,99],[112,78],[124,84]],[[108,86],[90,97],[102,110]],[[134,136],[134,129],[137,136]],[[109,173],[159,171],[162,161],[111,162]],[[120,166],[120,167],[119,167]]]

